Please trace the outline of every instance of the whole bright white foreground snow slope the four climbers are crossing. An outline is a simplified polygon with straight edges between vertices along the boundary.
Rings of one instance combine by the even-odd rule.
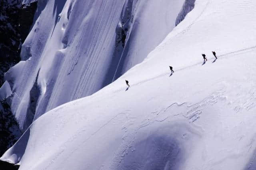
[[[42,115],[1,159],[20,170],[255,169],[255,9],[196,0],[142,63]]]

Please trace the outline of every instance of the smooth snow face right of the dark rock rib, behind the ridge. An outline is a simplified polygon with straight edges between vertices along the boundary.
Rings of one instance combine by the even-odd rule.
[[[114,77],[109,78],[115,80],[120,77],[134,64],[140,63],[150,51],[162,42],[175,27],[173,21],[176,20],[183,3],[184,0],[138,1],[130,15],[126,14],[130,5],[126,4],[126,8],[123,9],[126,13],[122,14],[117,27],[117,33],[120,34],[121,39],[122,29],[120,28],[123,27],[126,39],[124,43],[119,39],[116,41],[114,57],[120,56],[120,59],[113,59],[108,74],[112,75],[114,72]],[[109,83],[109,81],[105,83]]]

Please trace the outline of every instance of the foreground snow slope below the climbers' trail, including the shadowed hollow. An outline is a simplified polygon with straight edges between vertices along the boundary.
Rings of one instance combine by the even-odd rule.
[[[255,148],[255,53],[224,55],[127,91],[110,85],[53,109],[20,139],[30,136],[20,169],[245,168]],[[20,144],[2,159],[15,159]]]

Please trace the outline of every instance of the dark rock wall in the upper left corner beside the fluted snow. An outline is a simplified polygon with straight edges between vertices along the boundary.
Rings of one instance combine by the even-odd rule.
[[[37,2],[26,6],[22,0],[0,1],[0,87],[4,73],[20,61],[21,45],[33,23]]]

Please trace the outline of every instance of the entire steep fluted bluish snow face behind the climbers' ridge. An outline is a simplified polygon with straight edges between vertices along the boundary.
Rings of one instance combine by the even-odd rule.
[[[23,61],[5,76],[22,130],[46,111],[91,95],[140,63],[174,28],[183,2],[38,2],[37,19],[22,45]],[[120,24],[123,46],[118,42]]]

